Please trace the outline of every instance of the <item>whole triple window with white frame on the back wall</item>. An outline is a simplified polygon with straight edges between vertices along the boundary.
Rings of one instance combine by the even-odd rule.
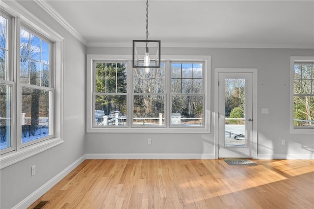
[[[131,66],[131,56],[88,55],[87,132],[209,132],[209,56]]]

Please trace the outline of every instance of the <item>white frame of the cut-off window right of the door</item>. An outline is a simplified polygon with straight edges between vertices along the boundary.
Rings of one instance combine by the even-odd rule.
[[[293,126],[293,97],[294,97],[294,64],[295,62],[314,62],[314,56],[291,56],[290,57],[290,133],[314,133],[314,129],[295,128]]]

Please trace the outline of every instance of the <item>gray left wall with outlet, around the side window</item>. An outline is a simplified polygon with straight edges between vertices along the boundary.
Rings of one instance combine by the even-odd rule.
[[[64,143],[1,169],[1,209],[17,205],[85,153],[86,47],[37,4],[31,1],[21,4],[65,39]],[[30,177],[32,165],[36,165],[36,175]]]

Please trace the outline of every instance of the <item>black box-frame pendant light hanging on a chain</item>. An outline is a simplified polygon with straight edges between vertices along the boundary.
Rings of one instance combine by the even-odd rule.
[[[146,0],[146,40],[133,40],[133,68],[160,68],[160,41],[148,40],[148,0]]]

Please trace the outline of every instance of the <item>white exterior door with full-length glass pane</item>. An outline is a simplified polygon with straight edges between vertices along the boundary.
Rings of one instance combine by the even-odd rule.
[[[218,74],[218,157],[252,157],[253,73]]]

